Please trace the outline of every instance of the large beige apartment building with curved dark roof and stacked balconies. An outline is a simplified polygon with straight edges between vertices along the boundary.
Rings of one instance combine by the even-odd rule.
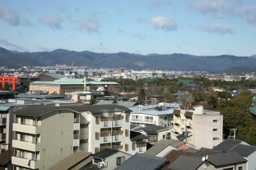
[[[129,112],[118,105],[38,105],[13,113],[15,169],[49,169],[77,150],[129,151]]]

